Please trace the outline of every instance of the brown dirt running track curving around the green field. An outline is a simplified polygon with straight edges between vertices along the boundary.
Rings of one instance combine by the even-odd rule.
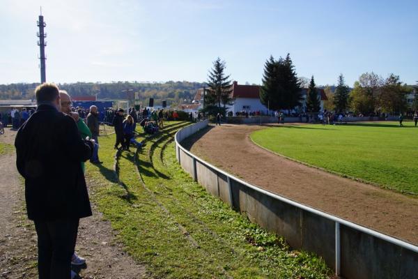
[[[418,245],[418,198],[287,160],[249,139],[263,126],[215,126],[184,142],[192,153],[261,188]]]

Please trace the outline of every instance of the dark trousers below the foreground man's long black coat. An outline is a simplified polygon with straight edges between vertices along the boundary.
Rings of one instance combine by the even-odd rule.
[[[79,219],[35,220],[39,279],[70,279]]]

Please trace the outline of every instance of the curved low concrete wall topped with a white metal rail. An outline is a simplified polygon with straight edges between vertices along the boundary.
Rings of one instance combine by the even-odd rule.
[[[418,246],[251,185],[180,145],[207,125],[206,120],[187,126],[176,133],[175,140],[178,162],[209,193],[246,213],[252,222],[284,236],[291,247],[323,257],[338,276],[418,278]]]

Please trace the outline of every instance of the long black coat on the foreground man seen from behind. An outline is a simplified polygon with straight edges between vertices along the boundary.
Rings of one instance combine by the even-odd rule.
[[[74,119],[40,105],[17,131],[15,146],[29,219],[91,216],[81,162],[91,157],[93,145],[82,140]]]

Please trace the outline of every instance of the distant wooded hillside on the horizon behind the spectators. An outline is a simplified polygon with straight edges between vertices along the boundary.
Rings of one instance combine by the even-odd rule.
[[[0,84],[0,99],[33,99],[33,90],[38,83]],[[77,82],[71,84],[58,84],[71,96],[93,96],[98,94],[98,99],[123,100],[127,94],[123,91],[132,89],[139,93],[139,101],[148,104],[149,98],[154,98],[155,105],[161,105],[162,100],[167,100],[167,105],[190,103],[196,90],[202,88],[200,82]]]

